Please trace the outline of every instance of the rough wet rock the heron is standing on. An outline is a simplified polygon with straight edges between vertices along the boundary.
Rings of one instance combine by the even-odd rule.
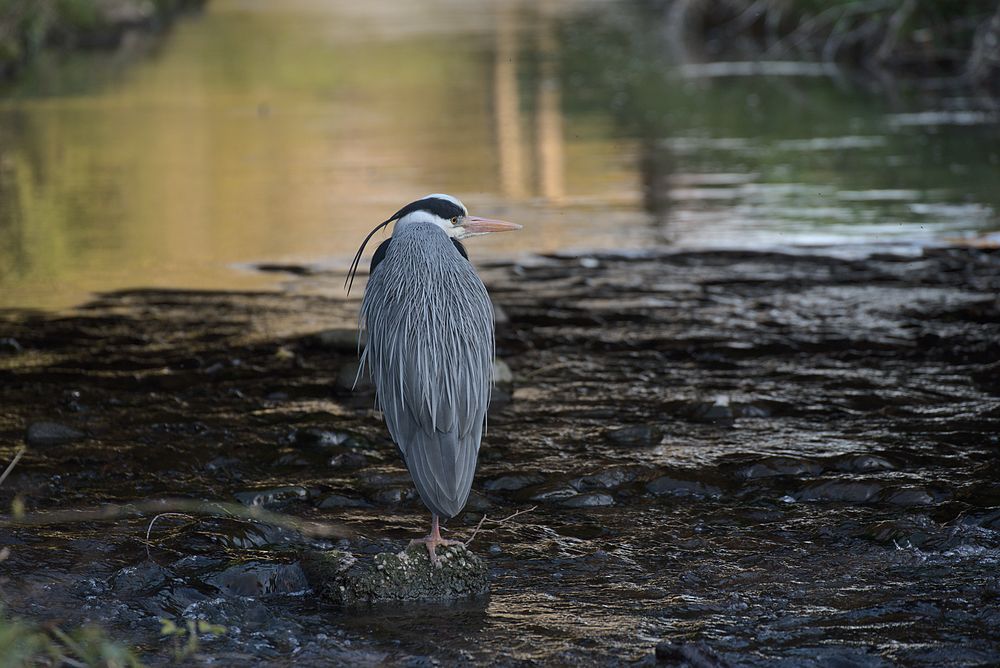
[[[336,604],[455,600],[489,591],[489,568],[465,546],[441,547],[437,553],[439,568],[422,545],[373,557],[341,550],[310,552],[302,567],[312,588]]]

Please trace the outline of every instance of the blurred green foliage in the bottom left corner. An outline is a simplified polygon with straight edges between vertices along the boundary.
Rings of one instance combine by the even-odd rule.
[[[142,663],[100,627],[82,626],[66,633],[0,611],[0,668],[28,665],[126,668]]]

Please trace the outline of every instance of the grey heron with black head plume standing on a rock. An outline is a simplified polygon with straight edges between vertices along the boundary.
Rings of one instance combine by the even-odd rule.
[[[395,223],[375,250],[358,322],[367,335],[359,375],[367,369],[376,408],[402,454],[414,486],[431,511],[426,545],[440,567],[440,521],[458,515],[469,498],[493,386],[493,304],[462,240],[521,229],[516,223],[470,216],[451,195],[410,202],[369,232],[345,282],[350,294],[365,246]]]

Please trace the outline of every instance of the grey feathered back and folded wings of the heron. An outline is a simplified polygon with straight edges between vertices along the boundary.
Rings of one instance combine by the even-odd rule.
[[[377,267],[362,303],[367,362],[389,433],[424,503],[465,506],[493,382],[493,310],[472,266],[437,282]]]

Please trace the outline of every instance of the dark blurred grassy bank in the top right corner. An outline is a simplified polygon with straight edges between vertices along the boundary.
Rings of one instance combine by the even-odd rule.
[[[845,61],[920,76],[996,83],[996,0],[675,0],[675,37],[714,55]],[[753,53],[756,51],[756,53]]]

